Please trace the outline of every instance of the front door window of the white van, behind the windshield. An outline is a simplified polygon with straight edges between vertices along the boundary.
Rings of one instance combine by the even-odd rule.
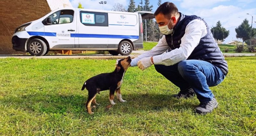
[[[61,10],[61,11],[57,11],[57,12],[53,13],[52,15],[50,15],[48,17],[51,17],[51,20],[52,20],[51,25],[71,23],[71,22],[73,22],[73,18],[74,18],[74,11],[73,10]],[[44,25],[49,25],[49,24],[44,23]]]

